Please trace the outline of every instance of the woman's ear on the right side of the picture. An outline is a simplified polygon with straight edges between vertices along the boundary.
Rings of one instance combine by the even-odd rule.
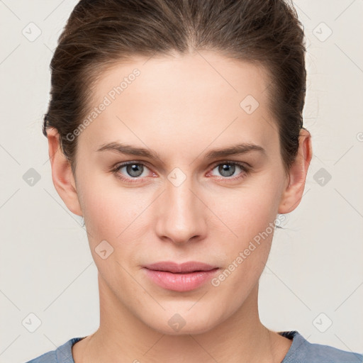
[[[281,196],[278,213],[290,213],[300,203],[312,156],[311,134],[305,128],[301,128],[298,137],[298,154],[291,165],[289,181]]]

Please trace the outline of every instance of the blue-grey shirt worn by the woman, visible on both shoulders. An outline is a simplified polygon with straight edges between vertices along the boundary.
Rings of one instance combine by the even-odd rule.
[[[292,340],[289,352],[281,363],[363,363],[363,354],[339,350],[329,345],[308,342],[296,330],[279,332]],[[74,337],[56,350],[40,355],[26,363],[74,363],[72,345],[83,337]]]

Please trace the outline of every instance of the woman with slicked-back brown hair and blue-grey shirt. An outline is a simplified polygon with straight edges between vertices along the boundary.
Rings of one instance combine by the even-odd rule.
[[[362,362],[259,320],[312,157],[304,55],[282,0],[77,4],[43,133],[84,218],[100,326],[30,362]]]

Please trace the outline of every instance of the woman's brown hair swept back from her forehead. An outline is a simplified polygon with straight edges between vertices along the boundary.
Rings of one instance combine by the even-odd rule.
[[[101,72],[134,55],[215,50],[267,69],[269,107],[289,172],[298,152],[306,93],[303,27],[284,0],[81,0],[50,63],[51,91],[43,134],[60,134],[74,172],[77,139],[67,138],[90,106]],[[241,99],[242,101],[242,99]]]

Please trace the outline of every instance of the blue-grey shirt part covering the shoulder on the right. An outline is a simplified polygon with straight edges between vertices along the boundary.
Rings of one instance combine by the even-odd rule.
[[[289,352],[281,363],[363,363],[363,354],[308,342],[296,330],[279,334],[293,340]]]

